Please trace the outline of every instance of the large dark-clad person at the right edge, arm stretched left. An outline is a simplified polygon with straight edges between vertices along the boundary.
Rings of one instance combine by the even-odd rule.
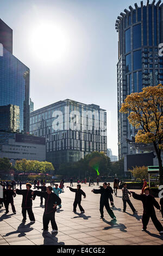
[[[160,210],[159,203],[155,200],[153,195],[150,194],[150,189],[145,189],[145,194],[138,195],[135,192],[130,192],[133,194],[133,198],[142,201],[143,203],[143,216],[142,216],[142,224],[143,228],[142,231],[147,230],[147,225],[149,222],[149,219],[151,217],[153,224],[155,225],[155,228],[160,232],[160,234],[163,234],[163,227],[161,223],[158,221],[154,206],[156,209]]]

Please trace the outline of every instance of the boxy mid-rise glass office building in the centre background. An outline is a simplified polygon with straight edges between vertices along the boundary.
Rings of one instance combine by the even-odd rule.
[[[46,138],[46,160],[55,169],[93,151],[106,154],[106,111],[66,99],[31,112],[30,134]]]

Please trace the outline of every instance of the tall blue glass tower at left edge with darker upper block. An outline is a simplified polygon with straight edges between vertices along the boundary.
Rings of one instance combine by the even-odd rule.
[[[12,55],[11,29],[0,22],[0,106],[16,105],[20,109],[20,132],[29,132],[29,76],[30,70]],[[4,37],[5,35],[5,37]],[[6,48],[5,48],[6,47]]]

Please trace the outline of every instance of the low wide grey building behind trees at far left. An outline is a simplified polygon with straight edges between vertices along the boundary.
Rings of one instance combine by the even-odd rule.
[[[46,160],[45,138],[20,133],[0,132],[0,158],[16,160]]]

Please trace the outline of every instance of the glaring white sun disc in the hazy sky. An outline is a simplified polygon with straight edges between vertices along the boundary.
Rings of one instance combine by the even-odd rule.
[[[62,62],[70,49],[70,37],[58,24],[39,23],[30,34],[30,50],[44,62]]]

